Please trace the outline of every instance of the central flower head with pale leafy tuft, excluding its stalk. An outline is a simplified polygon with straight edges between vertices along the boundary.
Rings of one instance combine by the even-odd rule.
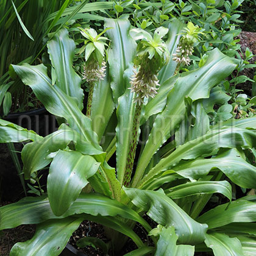
[[[144,98],[154,98],[157,94],[159,81],[158,71],[169,62],[169,51],[163,37],[168,33],[165,27],[158,27],[154,37],[143,29],[132,29],[130,35],[135,40],[141,40],[137,46],[134,65],[138,71],[134,72],[130,80],[132,92],[137,93],[135,102],[142,104]]]

